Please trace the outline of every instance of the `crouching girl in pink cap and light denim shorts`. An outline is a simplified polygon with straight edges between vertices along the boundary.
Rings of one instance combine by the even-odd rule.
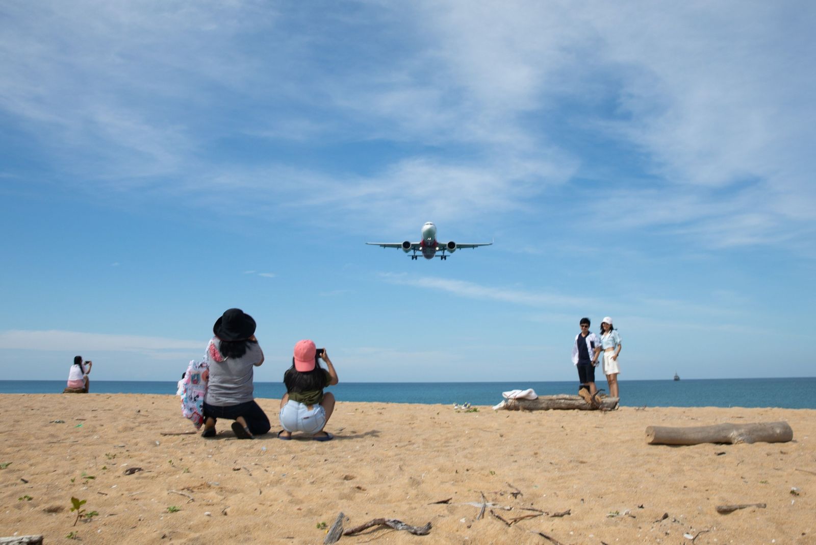
[[[326,361],[327,369],[318,365],[318,358]],[[277,432],[277,437],[287,441],[292,432],[304,432],[313,436],[314,441],[331,441],[334,436],[323,428],[335,410],[335,396],[323,393],[323,388],[337,382],[337,372],[326,348],[318,350],[308,339],[298,341],[292,366],[283,374],[286,384],[280,413],[283,429]]]

